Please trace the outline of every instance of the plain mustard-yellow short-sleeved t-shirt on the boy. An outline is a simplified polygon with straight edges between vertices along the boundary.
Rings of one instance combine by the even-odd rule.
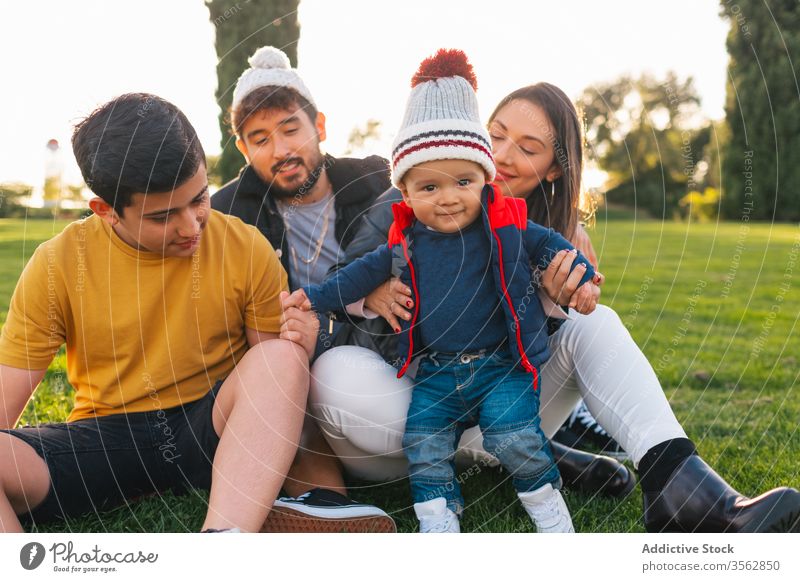
[[[139,252],[97,216],[36,249],[0,334],[0,364],[46,368],[67,345],[69,420],[204,396],[247,351],[245,326],[280,331],[286,272],[266,238],[212,211],[191,257]]]

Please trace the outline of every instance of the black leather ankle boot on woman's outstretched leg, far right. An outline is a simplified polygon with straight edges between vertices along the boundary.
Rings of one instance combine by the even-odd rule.
[[[697,455],[661,491],[644,492],[648,532],[800,532],[800,491],[779,487],[748,499]]]

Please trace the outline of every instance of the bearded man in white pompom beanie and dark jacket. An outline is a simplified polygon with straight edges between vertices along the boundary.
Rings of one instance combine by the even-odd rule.
[[[256,226],[272,243],[289,274],[289,286],[322,282],[342,259],[361,217],[390,186],[388,162],[324,155],[325,116],[289,59],[262,47],[249,59],[233,92],[230,111],[236,147],[247,164],[211,199],[216,210]],[[377,329],[380,322],[371,322]],[[318,356],[341,344],[375,337],[329,319],[321,321]],[[394,524],[376,507],[346,497],[336,456],[308,419],[298,456],[267,526],[275,531],[388,531]]]

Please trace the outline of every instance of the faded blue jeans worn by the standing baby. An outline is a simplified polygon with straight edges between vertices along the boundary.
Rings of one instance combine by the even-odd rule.
[[[517,491],[547,483],[559,488],[561,476],[539,426],[533,376],[517,368],[508,351],[459,356],[432,353],[420,362],[403,435],[414,502],[444,497],[461,513],[453,457],[464,430],[476,424],[484,448],[512,475]]]

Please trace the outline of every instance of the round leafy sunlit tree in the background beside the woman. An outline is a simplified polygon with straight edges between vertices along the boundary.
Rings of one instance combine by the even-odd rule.
[[[677,213],[680,199],[697,187],[710,133],[691,77],[623,76],[587,88],[578,105],[587,142],[610,176],[607,199],[654,216]]]

